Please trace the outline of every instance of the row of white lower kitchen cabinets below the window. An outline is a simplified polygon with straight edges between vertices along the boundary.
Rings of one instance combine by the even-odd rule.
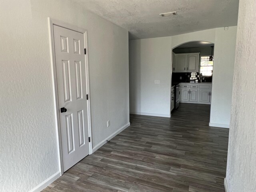
[[[212,84],[207,83],[181,83],[180,102],[211,104]]]

